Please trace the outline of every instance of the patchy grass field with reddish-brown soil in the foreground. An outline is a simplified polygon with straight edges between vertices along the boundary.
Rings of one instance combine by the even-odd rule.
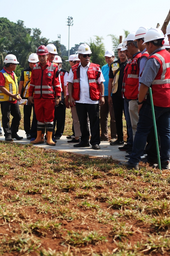
[[[0,254],[170,254],[170,175],[0,143]]]

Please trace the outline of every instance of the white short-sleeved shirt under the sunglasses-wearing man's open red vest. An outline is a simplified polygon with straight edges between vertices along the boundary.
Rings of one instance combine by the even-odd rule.
[[[77,103],[98,104],[99,101],[92,101],[90,99],[88,76],[87,76],[87,71],[88,71],[89,65],[90,65],[90,62],[88,63],[88,65],[86,67],[83,68],[81,65],[81,62],[79,64],[79,66],[80,66],[80,100],[76,101],[76,102]],[[101,69],[99,69],[99,71],[101,72]],[[74,77],[73,72],[72,72],[72,70],[70,70],[68,78],[67,78],[67,82],[73,83],[73,77]],[[97,81],[98,81],[98,84],[100,84],[101,82],[105,82],[102,72]]]

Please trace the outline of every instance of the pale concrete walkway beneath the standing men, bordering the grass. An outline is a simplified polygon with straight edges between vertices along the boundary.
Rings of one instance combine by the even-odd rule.
[[[23,140],[16,140],[14,139],[14,142],[17,143],[22,143],[22,144],[28,144],[30,143],[29,140],[26,139],[26,134],[25,131],[19,130],[18,135],[24,137]],[[5,140],[4,136],[0,137],[0,140]],[[49,146],[44,144],[40,145],[35,145],[37,147],[43,147],[46,149],[53,149],[53,150],[60,150],[60,151],[66,151],[66,152],[71,152],[71,153],[76,153],[76,154],[81,154],[81,155],[89,155],[89,156],[98,156],[98,157],[110,157],[114,160],[117,161],[126,161],[124,158],[127,153],[125,151],[120,151],[118,149],[119,146],[110,146],[110,143],[107,141],[103,141],[100,143],[100,150],[94,150],[92,149],[92,146],[87,148],[74,148],[73,144],[67,143],[66,136],[61,136],[60,140],[57,140],[56,146]]]

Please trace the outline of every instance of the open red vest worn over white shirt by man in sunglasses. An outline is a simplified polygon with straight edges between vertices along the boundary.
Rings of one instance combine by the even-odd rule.
[[[98,101],[100,99],[100,89],[99,84],[97,82],[98,78],[101,75],[99,71],[100,65],[90,63],[87,71],[88,76],[88,84],[89,84],[89,92],[90,92],[90,99],[92,101]],[[72,66],[71,70],[74,74],[73,80],[73,91],[72,97],[75,101],[80,100],[80,66],[79,63]]]

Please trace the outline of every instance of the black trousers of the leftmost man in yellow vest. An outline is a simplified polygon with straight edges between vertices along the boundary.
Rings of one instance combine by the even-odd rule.
[[[16,134],[19,129],[21,120],[20,107],[18,102],[14,104],[8,101],[1,101],[0,104],[4,136],[11,137],[11,135]],[[13,116],[11,127],[9,125],[10,114]]]

